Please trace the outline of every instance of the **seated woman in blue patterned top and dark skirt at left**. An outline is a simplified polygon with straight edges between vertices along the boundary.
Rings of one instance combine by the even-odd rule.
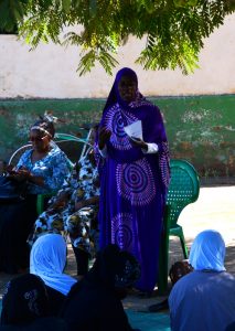
[[[36,220],[36,196],[57,191],[70,173],[70,160],[53,143],[55,129],[47,117],[30,128],[32,149],[25,151],[9,178],[26,183],[23,200],[0,200],[0,271],[17,274],[29,266],[26,238]]]

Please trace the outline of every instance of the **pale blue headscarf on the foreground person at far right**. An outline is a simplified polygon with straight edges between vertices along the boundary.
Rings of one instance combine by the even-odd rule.
[[[201,232],[190,250],[190,264],[195,270],[224,271],[225,243],[214,229]]]

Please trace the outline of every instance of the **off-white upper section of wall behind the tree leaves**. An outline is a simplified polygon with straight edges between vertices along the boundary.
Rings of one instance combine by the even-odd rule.
[[[139,88],[148,96],[186,96],[235,93],[235,14],[205,40],[200,70],[190,76],[180,71],[143,71],[135,64],[145,41],[129,39],[119,50],[120,65],[139,76]],[[79,77],[79,50],[41,44],[35,51],[14,35],[0,35],[0,98],[98,98],[106,97],[114,77],[102,67]]]

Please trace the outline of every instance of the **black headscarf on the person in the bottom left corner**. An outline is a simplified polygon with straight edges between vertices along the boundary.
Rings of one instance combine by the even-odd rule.
[[[47,314],[49,298],[39,276],[22,275],[8,282],[2,299],[1,324],[25,324]]]

